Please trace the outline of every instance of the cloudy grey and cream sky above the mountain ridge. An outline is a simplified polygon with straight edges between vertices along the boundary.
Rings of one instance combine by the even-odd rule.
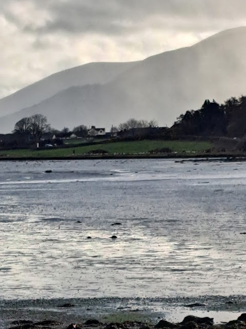
[[[54,72],[135,61],[246,25],[245,0],[0,0],[0,97]]]

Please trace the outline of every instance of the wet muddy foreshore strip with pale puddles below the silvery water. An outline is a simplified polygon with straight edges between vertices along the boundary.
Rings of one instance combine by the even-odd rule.
[[[74,329],[71,324],[80,323],[76,329],[90,327],[97,327],[98,329],[154,329],[161,319],[165,319],[169,324],[165,322],[165,326],[159,326],[159,328],[218,329],[218,324],[235,320],[246,311],[245,296],[240,298],[236,296],[192,297],[173,300],[165,298],[157,299],[155,302],[153,299],[141,301],[138,298],[125,300],[116,298],[113,300],[111,298],[0,300],[0,328]],[[188,322],[189,325],[187,323],[186,326],[183,326],[181,322],[188,316],[192,316],[194,319]],[[208,319],[208,317],[213,318],[213,325],[199,321],[196,323],[195,321],[195,319]],[[86,321],[91,319],[95,322],[91,326],[87,325]],[[29,321],[29,323],[24,323],[25,321]],[[51,324],[52,322],[53,324]],[[130,327],[126,325],[127,323],[131,323]],[[235,324],[237,322],[231,326],[233,329],[239,327]],[[222,328],[223,326],[225,325],[219,327]],[[246,323],[243,326],[246,328]],[[230,326],[226,327],[230,328]]]

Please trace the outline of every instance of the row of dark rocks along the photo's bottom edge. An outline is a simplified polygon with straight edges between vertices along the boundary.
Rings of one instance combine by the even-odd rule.
[[[227,323],[215,324],[213,318],[209,317],[196,317],[187,316],[179,323],[172,323],[165,319],[159,320],[157,323],[151,323],[148,321],[125,321],[125,322],[112,322],[102,323],[96,319],[89,319],[83,323],[71,323],[66,325],[64,321],[57,320],[43,320],[33,322],[31,320],[16,320],[10,323],[9,329],[84,329],[84,328],[98,328],[98,329],[239,329],[246,328],[246,314],[241,314],[236,320],[229,321]]]

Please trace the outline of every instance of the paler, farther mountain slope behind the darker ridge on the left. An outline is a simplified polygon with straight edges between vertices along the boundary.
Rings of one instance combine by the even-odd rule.
[[[57,72],[1,99],[0,115],[12,114],[24,107],[38,104],[71,86],[105,84],[136,63],[89,63]]]

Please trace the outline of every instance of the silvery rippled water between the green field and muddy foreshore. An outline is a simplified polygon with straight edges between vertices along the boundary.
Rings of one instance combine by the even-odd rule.
[[[245,194],[246,163],[1,162],[0,299],[246,295]]]

